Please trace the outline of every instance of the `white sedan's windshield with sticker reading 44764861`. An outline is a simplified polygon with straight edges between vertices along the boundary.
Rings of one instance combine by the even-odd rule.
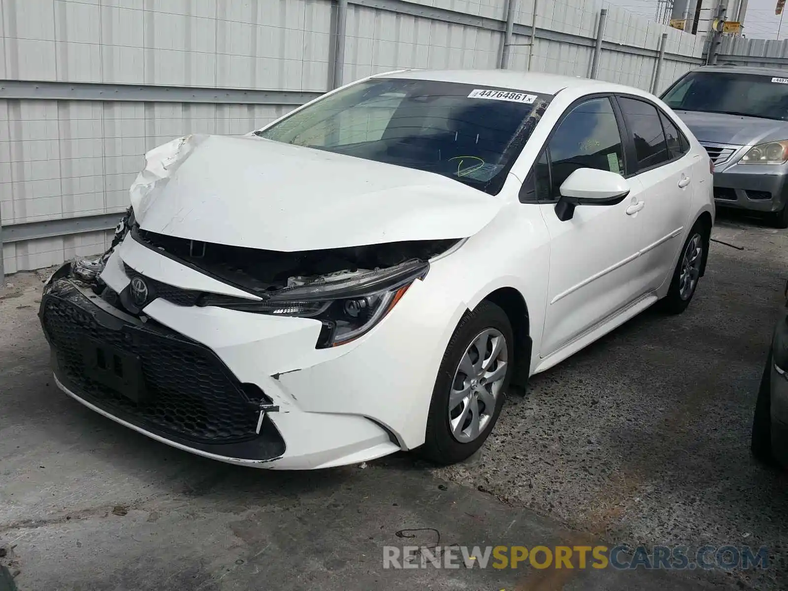
[[[494,195],[548,95],[434,80],[355,84],[256,135],[426,170]]]

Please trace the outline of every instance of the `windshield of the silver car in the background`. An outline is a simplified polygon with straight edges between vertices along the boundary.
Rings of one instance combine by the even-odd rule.
[[[788,119],[788,79],[736,72],[690,72],[663,100],[675,110]]]

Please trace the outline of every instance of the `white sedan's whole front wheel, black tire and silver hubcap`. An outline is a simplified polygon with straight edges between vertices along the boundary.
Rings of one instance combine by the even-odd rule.
[[[481,302],[449,340],[429,405],[420,452],[440,464],[461,462],[481,448],[504,405],[514,351],[504,310]]]

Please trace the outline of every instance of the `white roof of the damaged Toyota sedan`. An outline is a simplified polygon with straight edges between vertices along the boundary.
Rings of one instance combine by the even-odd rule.
[[[511,88],[519,91],[535,92],[539,95],[556,95],[565,88],[588,88],[589,92],[630,92],[648,95],[644,91],[621,84],[611,84],[602,80],[590,80],[580,76],[559,76],[541,72],[517,72],[514,70],[400,70],[377,74],[384,78],[405,78],[410,80],[439,80],[459,84],[478,84],[480,86]]]

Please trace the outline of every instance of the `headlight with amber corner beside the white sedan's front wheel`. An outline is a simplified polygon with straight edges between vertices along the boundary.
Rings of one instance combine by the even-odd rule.
[[[270,292],[261,301],[206,296],[199,305],[314,318],[323,324],[317,347],[336,347],[359,338],[381,322],[428,270],[428,262],[411,260],[386,269],[306,280]]]

